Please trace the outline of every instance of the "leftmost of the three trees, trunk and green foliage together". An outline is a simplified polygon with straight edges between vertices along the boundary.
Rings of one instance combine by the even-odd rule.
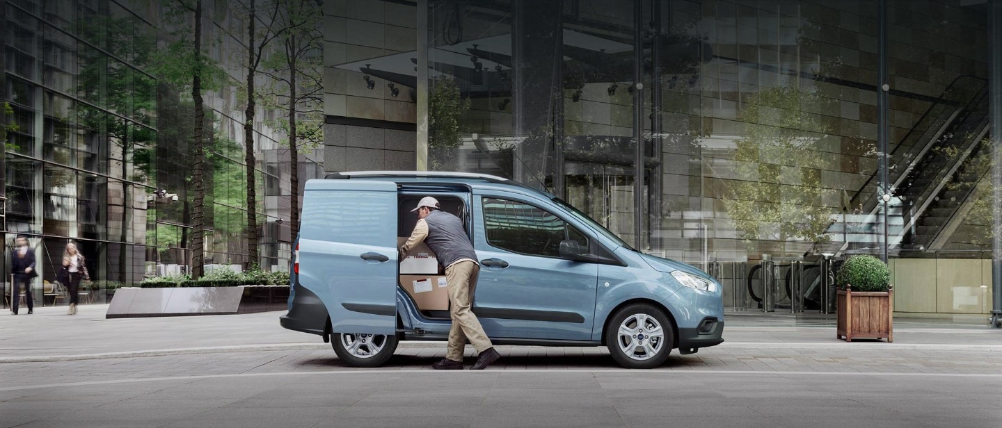
[[[205,107],[201,91],[212,90],[226,80],[225,72],[205,55],[208,46],[202,40],[202,1],[174,0],[166,4],[164,31],[171,41],[151,55],[151,70],[164,81],[190,87],[194,101],[191,136],[191,184],[194,198],[191,207],[191,277],[204,274],[205,213]],[[211,43],[209,41],[208,43]]]

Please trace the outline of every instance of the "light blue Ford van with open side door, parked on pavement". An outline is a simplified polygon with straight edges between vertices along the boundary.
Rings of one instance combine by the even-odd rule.
[[[424,196],[464,219],[481,264],[473,312],[496,345],[606,346],[654,368],[723,342],[720,284],[640,253],[547,193],[483,174],[342,172],[310,180],[283,327],[321,335],[346,364],[382,365],[401,340],[448,339],[448,310],[402,287],[398,237]],[[447,309],[447,308],[446,308]]]

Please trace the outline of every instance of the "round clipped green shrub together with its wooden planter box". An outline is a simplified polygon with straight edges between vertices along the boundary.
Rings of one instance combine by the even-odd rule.
[[[846,260],[836,276],[839,286],[838,332],[847,342],[886,338],[894,342],[894,288],[887,263],[874,256]]]

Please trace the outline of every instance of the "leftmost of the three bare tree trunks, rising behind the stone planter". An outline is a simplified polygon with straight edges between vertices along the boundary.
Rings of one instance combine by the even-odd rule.
[[[194,9],[194,55],[195,70],[191,77],[191,98],[194,99],[194,136],[192,137],[191,182],[194,184],[194,206],[191,212],[191,278],[201,278],[204,273],[205,255],[202,251],[204,236],[202,236],[205,203],[205,185],[202,183],[202,169],[205,164],[205,151],[202,142],[202,126],[205,112],[201,99],[201,0],[197,0]]]

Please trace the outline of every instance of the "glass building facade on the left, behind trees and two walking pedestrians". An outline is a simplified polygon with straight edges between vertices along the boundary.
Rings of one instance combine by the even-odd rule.
[[[164,2],[4,0],[2,99],[5,302],[14,237],[35,249],[36,304],[52,289],[67,242],[86,257],[88,299],[106,302],[116,287],[153,275],[187,272],[191,257],[189,91],[158,80],[150,55],[162,46]],[[206,52],[223,62],[238,46],[225,2],[204,2]],[[234,78],[239,64],[227,64]],[[244,72],[245,74],[245,72]],[[244,103],[237,89],[206,91],[208,164],[206,264],[285,269],[291,254],[291,162],[281,138],[256,126],[260,259],[248,260],[243,164]],[[275,117],[262,110],[259,117]],[[266,121],[260,121],[265,123]],[[319,173],[315,153],[302,180]],[[44,295],[44,296],[43,296]]]

